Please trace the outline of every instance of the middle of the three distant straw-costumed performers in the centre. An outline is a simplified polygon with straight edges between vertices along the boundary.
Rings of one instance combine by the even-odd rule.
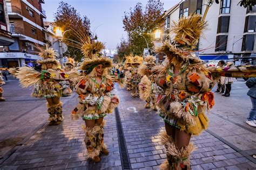
[[[139,97],[139,82],[142,79],[142,76],[138,73],[138,68],[143,63],[142,56],[134,56],[132,60],[132,69],[131,69],[131,90],[132,97]]]

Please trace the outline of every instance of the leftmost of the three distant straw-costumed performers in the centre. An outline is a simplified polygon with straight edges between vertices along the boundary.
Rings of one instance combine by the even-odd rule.
[[[130,91],[132,89],[131,87],[131,77],[132,77],[132,61],[133,56],[127,55],[125,57],[125,63],[124,63],[124,69],[125,69],[125,77],[126,77],[126,90]]]

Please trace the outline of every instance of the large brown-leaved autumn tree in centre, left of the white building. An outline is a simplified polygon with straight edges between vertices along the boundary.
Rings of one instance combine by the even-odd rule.
[[[163,3],[160,0],[149,0],[145,6],[137,3],[129,12],[125,12],[123,17],[123,28],[128,34],[128,42],[133,49],[133,55],[142,55],[143,49],[152,47],[151,33],[156,30],[163,21]],[[146,41],[145,41],[145,39]]]

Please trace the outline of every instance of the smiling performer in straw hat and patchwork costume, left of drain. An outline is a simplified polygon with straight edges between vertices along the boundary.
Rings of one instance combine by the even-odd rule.
[[[75,32],[74,34],[76,34]],[[82,34],[82,32],[79,32]],[[104,48],[102,42],[92,41],[85,33],[81,39],[81,47],[85,55],[81,69],[86,71],[76,86],[76,93],[79,95],[79,103],[71,113],[72,120],[82,117],[85,125],[84,142],[87,148],[87,156],[94,162],[99,162],[99,154],[109,154],[104,144],[103,120],[107,114],[119,104],[119,98],[112,94],[113,81],[109,70],[112,68],[112,61],[107,57],[100,56]]]

